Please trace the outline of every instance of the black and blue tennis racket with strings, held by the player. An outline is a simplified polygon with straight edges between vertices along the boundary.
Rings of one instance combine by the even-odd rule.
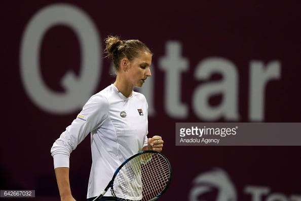
[[[118,200],[156,200],[169,187],[171,177],[171,165],[163,154],[152,150],[141,151],[119,166],[111,181],[94,201],[102,197],[109,188]]]

